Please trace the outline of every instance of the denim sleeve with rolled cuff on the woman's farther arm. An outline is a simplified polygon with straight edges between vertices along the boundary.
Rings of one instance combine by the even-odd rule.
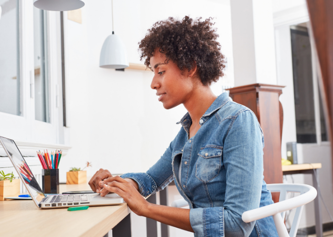
[[[122,178],[131,178],[138,183],[139,192],[147,197],[163,190],[172,180],[172,151],[177,137],[170,143],[163,156],[146,173],[125,173]]]

